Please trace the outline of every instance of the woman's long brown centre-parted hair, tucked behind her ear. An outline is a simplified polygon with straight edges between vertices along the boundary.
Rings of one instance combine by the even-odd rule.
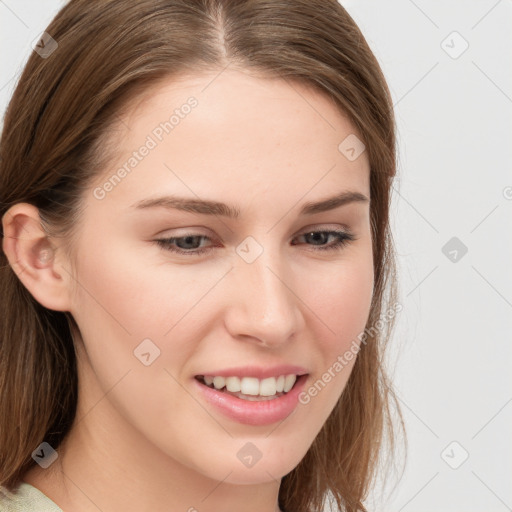
[[[48,235],[62,237],[70,254],[83,194],[112,156],[109,129],[160,80],[229,64],[307,84],[363,136],[376,276],[369,330],[337,405],[283,477],[279,505],[320,512],[331,499],[339,510],[366,510],[384,442],[393,454],[396,426],[404,424],[384,368],[393,318],[382,321],[397,297],[389,227],[395,119],[355,22],[336,0],[71,0],[46,32],[58,47],[47,58],[32,53],[6,111],[0,216],[19,202],[35,205]],[[42,441],[56,448],[72,425],[77,325],[69,312],[40,305],[3,251],[0,299],[0,485],[13,490],[34,464],[33,450]],[[375,329],[378,322],[384,328]]]

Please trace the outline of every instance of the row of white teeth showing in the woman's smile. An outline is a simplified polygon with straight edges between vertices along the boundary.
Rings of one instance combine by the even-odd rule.
[[[221,377],[204,376],[204,382],[207,386],[215,389],[222,389],[224,386],[231,393],[243,393],[251,396],[274,396],[278,393],[288,393],[292,389],[297,376],[294,374],[280,375],[279,377],[268,377],[259,380],[256,377]]]

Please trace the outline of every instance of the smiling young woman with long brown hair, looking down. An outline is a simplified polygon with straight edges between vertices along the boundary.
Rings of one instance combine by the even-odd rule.
[[[354,21],[71,0],[34,50],[1,140],[0,509],[364,511],[400,304]]]

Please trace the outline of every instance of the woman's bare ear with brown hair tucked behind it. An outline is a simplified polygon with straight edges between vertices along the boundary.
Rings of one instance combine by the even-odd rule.
[[[63,251],[50,242],[39,210],[17,203],[2,217],[2,226],[3,251],[25,288],[44,307],[69,311],[71,268]]]

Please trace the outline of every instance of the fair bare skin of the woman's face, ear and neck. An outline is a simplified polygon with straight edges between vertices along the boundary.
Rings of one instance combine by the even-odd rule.
[[[76,262],[45,237],[35,207],[19,203],[2,219],[20,280],[80,328],[75,424],[57,461],[24,477],[64,510],[279,510],[281,478],[306,454],[356,360],[272,425],[230,420],[194,391],[201,370],[248,363],[302,365],[307,389],[364,330],[374,284],[369,203],[298,216],[304,203],[343,190],[370,197],[366,152],[349,161],[338,150],[357,133],[348,119],[302,85],[217,75],[168,80],[123,115],[115,162],[84,196]],[[190,96],[197,107],[95,198],[94,187]],[[241,215],[130,208],[164,193],[222,201]],[[357,239],[339,250],[300,236],[344,227]],[[193,247],[215,248],[181,256],[153,242],[188,232],[210,237]],[[248,236],[263,248],[251,264],[235,251]],[[49,247],[51,257],[38,259]],[[161,351],[149,366],[133,353],[145,338]],[[247,442],[262,453],[250,468],[236,456]]]

